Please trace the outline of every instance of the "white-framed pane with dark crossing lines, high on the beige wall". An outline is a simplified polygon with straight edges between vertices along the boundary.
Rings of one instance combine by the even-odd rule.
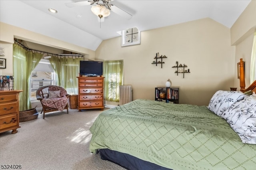
[[[140,44],[140,30],[136,27],[122,30],[122,47],[136,44]]]

